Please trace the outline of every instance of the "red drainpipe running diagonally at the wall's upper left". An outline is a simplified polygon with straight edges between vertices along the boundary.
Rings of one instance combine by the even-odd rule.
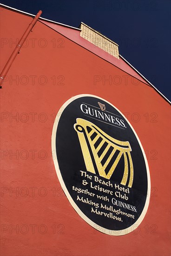
[[[32,20],[32,22],[29,24],[29,26],[27,27],[25,33],[23,34],[23,36],[21,37],[18,45],[15,47],[15,49],[13,50],[13,53],[11,54],[11,56],[9,57],[9,60],[7,61],[4,69],[2,70],[1,74],[0,74],[0,89],[2,88],[2,83],[3,80],[5,78],[5,76],[7,75],[7,72],[9,70],[9,68],[11,67],[11,65],[13,64],[13,61],[15,60],[15,57],[17,56],[17,54],[20,51],[20,48],[22,47],[23,43],[25,42],[28,34],[30,33],[30,31],[32,30],[33,26],[36,24],[37,20],[39,19],[40,15],[41,15],[42,11],[39,11],[36,16],[34,17],[34,19]]]

